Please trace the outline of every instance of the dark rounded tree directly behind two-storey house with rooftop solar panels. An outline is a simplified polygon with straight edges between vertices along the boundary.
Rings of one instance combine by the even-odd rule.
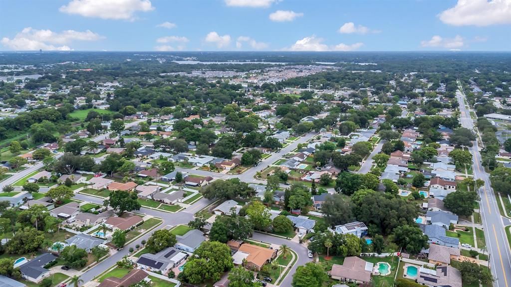
[[[330,226],[346,224],[355,219],[353,204],[350,200],[344,200],[340,195],[328,196],[321,205],[321,211]]]

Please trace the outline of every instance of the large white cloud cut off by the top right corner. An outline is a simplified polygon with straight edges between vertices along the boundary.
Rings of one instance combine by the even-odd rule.
[[[438,17],[453,26],[511,24],[511,1],[458,0],[456,6],[443,11]]]

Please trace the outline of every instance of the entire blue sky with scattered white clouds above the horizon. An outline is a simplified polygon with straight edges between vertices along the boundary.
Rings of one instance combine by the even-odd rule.
[[[511,0],[0,2],[0,50],[510,51]]]

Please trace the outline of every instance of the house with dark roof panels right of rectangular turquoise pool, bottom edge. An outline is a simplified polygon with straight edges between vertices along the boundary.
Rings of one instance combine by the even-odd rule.
[[[434,287],[462,287],[461,272],[450,266],[438,266],[436,270],[421,267],[417,276],[417,283]]]

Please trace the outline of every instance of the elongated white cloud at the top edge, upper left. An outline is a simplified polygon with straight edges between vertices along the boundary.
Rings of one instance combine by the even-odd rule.
[[[134,20],[136,12],[152,10],[149,0],[73,0],[59,9],[67,14],[114,20]]]

